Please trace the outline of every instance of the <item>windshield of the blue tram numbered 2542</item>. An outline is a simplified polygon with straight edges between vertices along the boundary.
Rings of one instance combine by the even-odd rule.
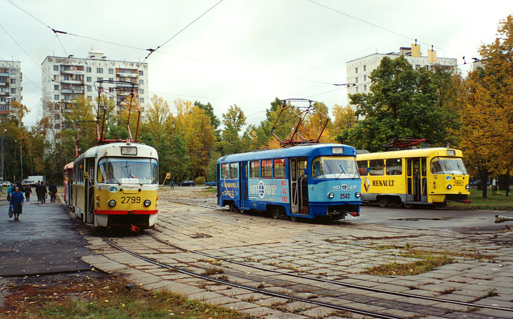
[[[356,160],[352,156],[319,156],[312,161],[313,178],[358,178]]]

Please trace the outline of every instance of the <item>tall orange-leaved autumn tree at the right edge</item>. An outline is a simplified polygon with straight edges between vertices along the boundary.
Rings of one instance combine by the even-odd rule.
[[[481,67],[463,88],[461,146],[467,166],[477,168],[486,185],[489,174],[509,175],[513,166],[513,15],[500,22],[495,41],[479,52]]]

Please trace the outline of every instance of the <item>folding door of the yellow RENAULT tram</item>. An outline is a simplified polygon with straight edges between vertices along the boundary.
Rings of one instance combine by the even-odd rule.
[[[406,201],[427,202],[426,158],[408,158],[406,161]]]

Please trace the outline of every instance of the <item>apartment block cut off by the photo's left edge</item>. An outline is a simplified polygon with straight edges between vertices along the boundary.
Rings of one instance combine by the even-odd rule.
[[[0,117],[10,114],[11,101],[22,102],[21,62],[0,61]]]

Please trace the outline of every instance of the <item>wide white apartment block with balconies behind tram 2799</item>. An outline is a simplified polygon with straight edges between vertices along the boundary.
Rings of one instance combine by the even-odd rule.
[[[137,62],[113,61],[107,59],[103,52],[89,51],[87,58],[47,56],[42,64],[43,68],[43,101],[55,103],[61,112],[71,112],[72,102],[78,96],[85,96],[93,102],[93,111],[96,114],[97,105],[95,97],[98,96],[95,81],[110,80],[124,81],[139,85],[136,98],[141,107],[141,121],[144,121],[145,107],[150,104],[148,93],[148,64]],[[103,86],[117,98],[125,98],[130,94],[120,89],[120,85],[107,84]],[[117,87],[117,89],[114,89]],[[117,103],[117,99],[109,96]],[[123,106],[118,106],[121,110]],[[55,118],[57,119],[57,118]],[[67,128],[63,117],[56,121],[55,128]],[[60,123],[59,123],[60,122]]]

